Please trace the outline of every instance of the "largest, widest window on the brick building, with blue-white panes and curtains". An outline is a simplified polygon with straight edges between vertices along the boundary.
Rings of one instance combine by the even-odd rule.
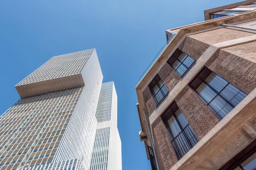
[[[190,83],[190,87],[220,120],[247,96],[239,88],[206,67]]]

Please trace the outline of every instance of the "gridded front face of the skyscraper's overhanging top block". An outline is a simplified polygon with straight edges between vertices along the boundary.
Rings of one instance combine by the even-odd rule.
[[[90,49],[52,57],[17,85],[79,74],[94,51],[95,49]]]

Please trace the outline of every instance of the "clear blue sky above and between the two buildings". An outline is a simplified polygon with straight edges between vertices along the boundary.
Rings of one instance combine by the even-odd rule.
[[[239,0],[2,0],[0,115],[20,80],[55,55],[96,48],[114,81],[123,170],[150,170],[138,132],[135,86],[166,42],[165,30],[204,20],[204,10]]]

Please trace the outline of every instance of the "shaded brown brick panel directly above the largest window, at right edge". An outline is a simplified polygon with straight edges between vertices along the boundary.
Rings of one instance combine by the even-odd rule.
[[[206,66],[247,94],[256,88],[255,62],[219,50]]]

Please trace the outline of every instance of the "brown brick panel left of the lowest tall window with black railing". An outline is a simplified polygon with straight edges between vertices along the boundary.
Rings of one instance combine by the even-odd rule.
[[[169,170],[177,162],[177,158],[170,141],[170,134],[161,118],[154,121],[152,131],[159,152],[157,157],[160,158],[161,170]]]

